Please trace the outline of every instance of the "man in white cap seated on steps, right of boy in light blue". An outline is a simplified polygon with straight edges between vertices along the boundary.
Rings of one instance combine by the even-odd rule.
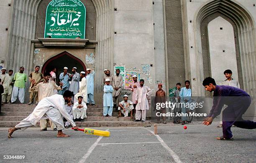
[[[118,117],[121,117],[121,113],[125,116],[128,117],[128,114],[131,112],[131,118],[133,118],[133,102],[131,100],[128,100],[128,95],[123,96],[123,101],[119,103],[119,115]]]

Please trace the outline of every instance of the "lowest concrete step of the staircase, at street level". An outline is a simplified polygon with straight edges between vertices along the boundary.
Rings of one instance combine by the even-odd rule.
[[[15,127],[20,121],[0,121],[0,127]],[[146,122],[129,122],[129,121],[87,121],[87,122],[76,122],[78,127],[132,127],[132,126],[149,126],[151,123]],[[33,126],[34,127],[34,126]],[[36,123],[35,127],[40,127],[40,122]],[[48,127],[50,127],[48,125]],[[51,130],[48,128],[48,130]]]

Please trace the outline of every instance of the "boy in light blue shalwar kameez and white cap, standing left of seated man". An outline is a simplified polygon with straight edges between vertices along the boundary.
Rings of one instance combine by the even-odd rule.
[[[104,94],[103,94],[103,117],[107,114],[112,116],[113,111],[113,87],[110,84],[110,79],[106,79],[106,85],[104,85]]]

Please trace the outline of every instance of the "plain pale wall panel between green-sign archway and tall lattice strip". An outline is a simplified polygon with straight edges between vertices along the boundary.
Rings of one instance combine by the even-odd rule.
[[[141,70],[141,64],[150,67],[150,80],[145,85],[154,89],[154,25],[152,0],[115,0],[114,63],[125,68]]]

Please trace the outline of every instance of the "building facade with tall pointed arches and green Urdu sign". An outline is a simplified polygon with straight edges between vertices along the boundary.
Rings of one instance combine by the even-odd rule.
[[[55,1],[67,5],[78,0]],[[79,2],[86,8],[85,37],[49,38],[45,28],[51,0],[0,0],[2,66],[14,72],[24,66],[25,73],[36,65],[42,72],[56,67],[57,75],[64,66],[92,68],[96,93],[103,90],[103,70],[114,73],[119,66],[124,77],[137,73],[153,90],[163,83],[167,93],[176,83],[190,80],[194,96],[209,95],[204,78],[220,82],[223,71],[231,69],[241,88],[256,96],[255,0]],[[56,21],[62,25],[62,14],[76,14],[74,8],[52,12],[60,14]]]

